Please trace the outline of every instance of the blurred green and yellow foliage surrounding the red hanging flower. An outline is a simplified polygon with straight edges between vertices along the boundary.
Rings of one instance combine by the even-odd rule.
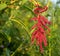
[[[43,6],[46,0],[37,0]],[[48,46],[41,54],[39,47],[31,45],[31,18],[34,5],[29,0],[0,0],[0,56],[60,56],[60,1],[50,2],[44,12],[51,21],[51,35],[47,36]]]

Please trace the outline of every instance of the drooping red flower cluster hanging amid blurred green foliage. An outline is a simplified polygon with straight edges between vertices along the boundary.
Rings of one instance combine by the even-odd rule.
[[[37,23],[32,27],[32,29],[36,29],[32,33],[32,43],[34,42],[34,39],[36,39],[37,44],[40,46],[41,53],[43,53],[42,43],[44,43],[44,46],[47,46],[45,29],[48,29],[48,31],[50,32],[50,29],[47,26],[48,24],[50,24],[50,22],[48,21],[48,19],[46,19],[46,17],[42,16],[39,13],[42,13],[47,9],[47,6],[45,6],[44,8],[38,6],[34,9],[34,13],[37,14],[37,17],[32,18],[32,20],[37,21]]]

